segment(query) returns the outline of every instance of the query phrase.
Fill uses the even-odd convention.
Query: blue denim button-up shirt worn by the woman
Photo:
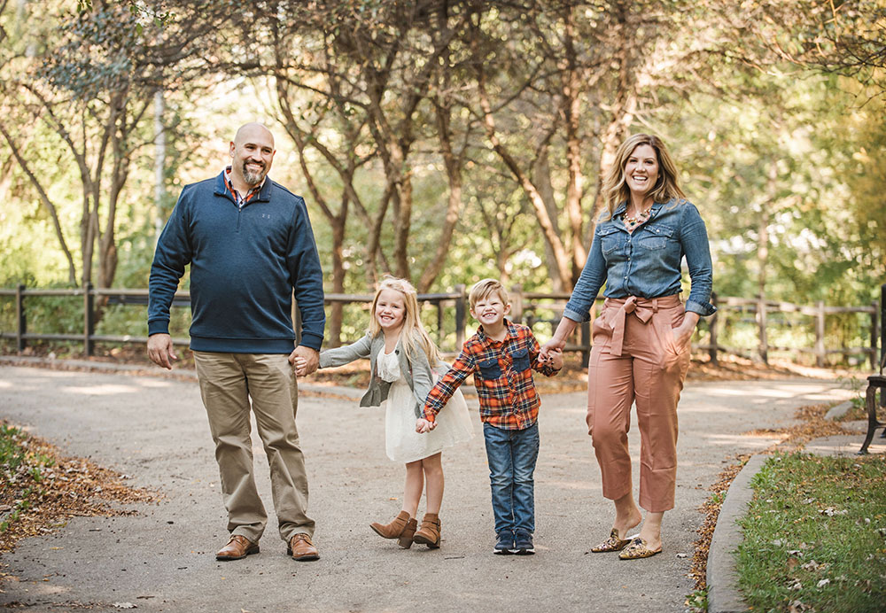
[[[652,215],[633,234],[625,228],[626,204],[611,219],[599,221],[585,268],[563,315],[573,322],[590,318],[603,283],[606,298],[657,298],[680,293],[680,261],[686,256],[692,284],[686,310],[711,315],[711,250],[704,221],[695,205],[672,199],[652,205]]]

